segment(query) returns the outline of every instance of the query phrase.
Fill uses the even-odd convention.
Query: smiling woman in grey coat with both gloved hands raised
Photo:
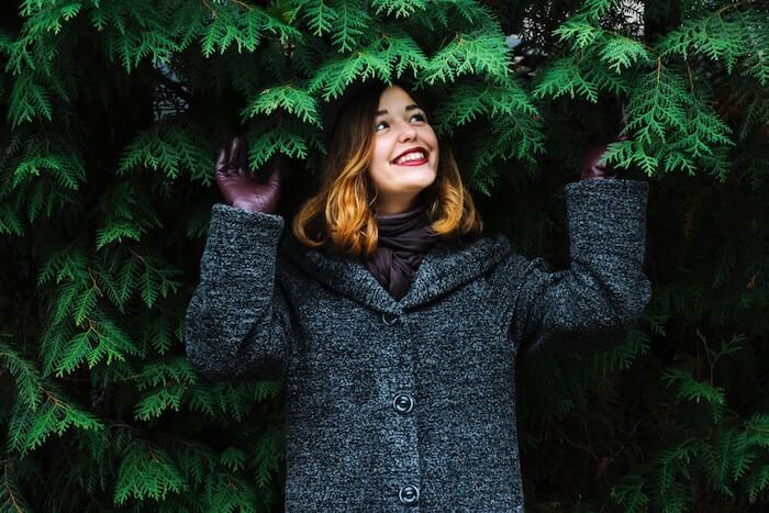
[[[287,511],[523,511],[514,359],[623,339],[650,295],[648,185],[589,161],[566,186],[570,268],[551,272],[478,236],[403,83],[357,91],[332,133],[282,244],[280,166],[258,183],[241,140],[220,153],[230,204],[212,209],[190,360],[211,379],[286,380]]]

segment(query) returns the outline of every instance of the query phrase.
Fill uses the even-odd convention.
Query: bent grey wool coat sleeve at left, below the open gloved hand
[[[210,379],[280,378],[291,339],[276,280],[283,219],[214,204],[200,282],[187,309],[189,361]]]

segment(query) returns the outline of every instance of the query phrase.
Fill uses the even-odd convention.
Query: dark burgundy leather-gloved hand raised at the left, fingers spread
[[[278,210],[281,182],[288,166],[287,157],[276,155],[266,166],[266,181],[260,183],[256,174],[248,168],[246,142],[236,136],[230,143],[230,149],[219,150],[214,177],[229,204],[250,212],[274,214]]]

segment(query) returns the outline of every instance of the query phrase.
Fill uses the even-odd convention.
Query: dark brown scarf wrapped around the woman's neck
[[[423,207],[400,214],[377,215],[377,250],[364,264],[395,300],[409,290],[422,255],[435,243]]]

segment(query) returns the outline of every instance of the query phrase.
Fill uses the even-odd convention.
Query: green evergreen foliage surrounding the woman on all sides
[[[243,133],[254,168],[301,163],[290,222],[324,104],[370,76],[436,99],[489,230],[554,267],[588,147],[653,182],[638,325],[610,352],[519,361],[527,510],[762,511],[768,7],[5,2],[2,511],[281,510],[282,383],[212,383],[183,352],[214,158]]]

